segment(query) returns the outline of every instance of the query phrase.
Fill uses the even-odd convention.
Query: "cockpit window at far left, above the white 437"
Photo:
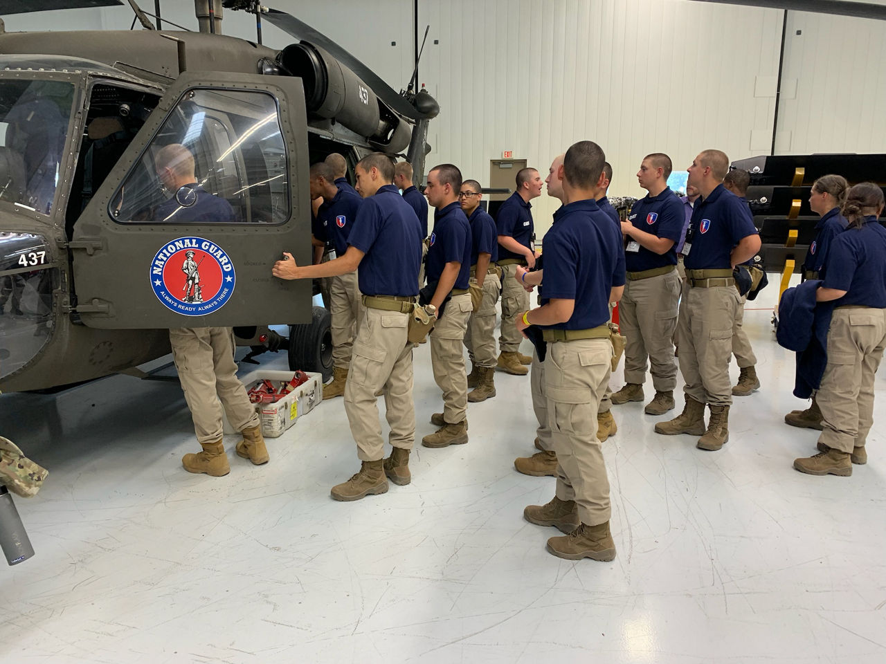
[[[0,200],[50,214],[74,86],[0,81]]]

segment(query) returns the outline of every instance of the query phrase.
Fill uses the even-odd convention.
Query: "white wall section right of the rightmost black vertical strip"
[[[789,12],[782,81],[778,153],[886,152],[886,21]]]

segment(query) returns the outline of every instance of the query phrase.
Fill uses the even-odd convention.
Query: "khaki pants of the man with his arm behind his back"
[[[690,288],[683,284],[677,345],[683,391],[703,404],[732,405],[729,359],[738,308],[734,286]]]

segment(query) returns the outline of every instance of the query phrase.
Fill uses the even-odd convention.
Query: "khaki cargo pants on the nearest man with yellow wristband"
[[[548,423],[557,458],[556,497],[574,500],[587,526],[610,520],[610,486],[597,409],[610,377],[609,339],[548,344],[545,389]]]

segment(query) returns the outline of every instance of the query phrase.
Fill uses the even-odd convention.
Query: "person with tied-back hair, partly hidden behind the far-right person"
[[[848,193],[849,182],[843,175],[822,175],[812,183],[809,207],[812,212],[819,214],[821,219],[815,225],[815,238],[806,251],[802,272],[804,280],[825,278],[830,245],[837,235],[843,233],[849,223],[840,211]],[[812,404],[808,408],[791,411],[784,416],[784,421],[792,427],[820,431],[821,410],[815,395],[812,395]]]

